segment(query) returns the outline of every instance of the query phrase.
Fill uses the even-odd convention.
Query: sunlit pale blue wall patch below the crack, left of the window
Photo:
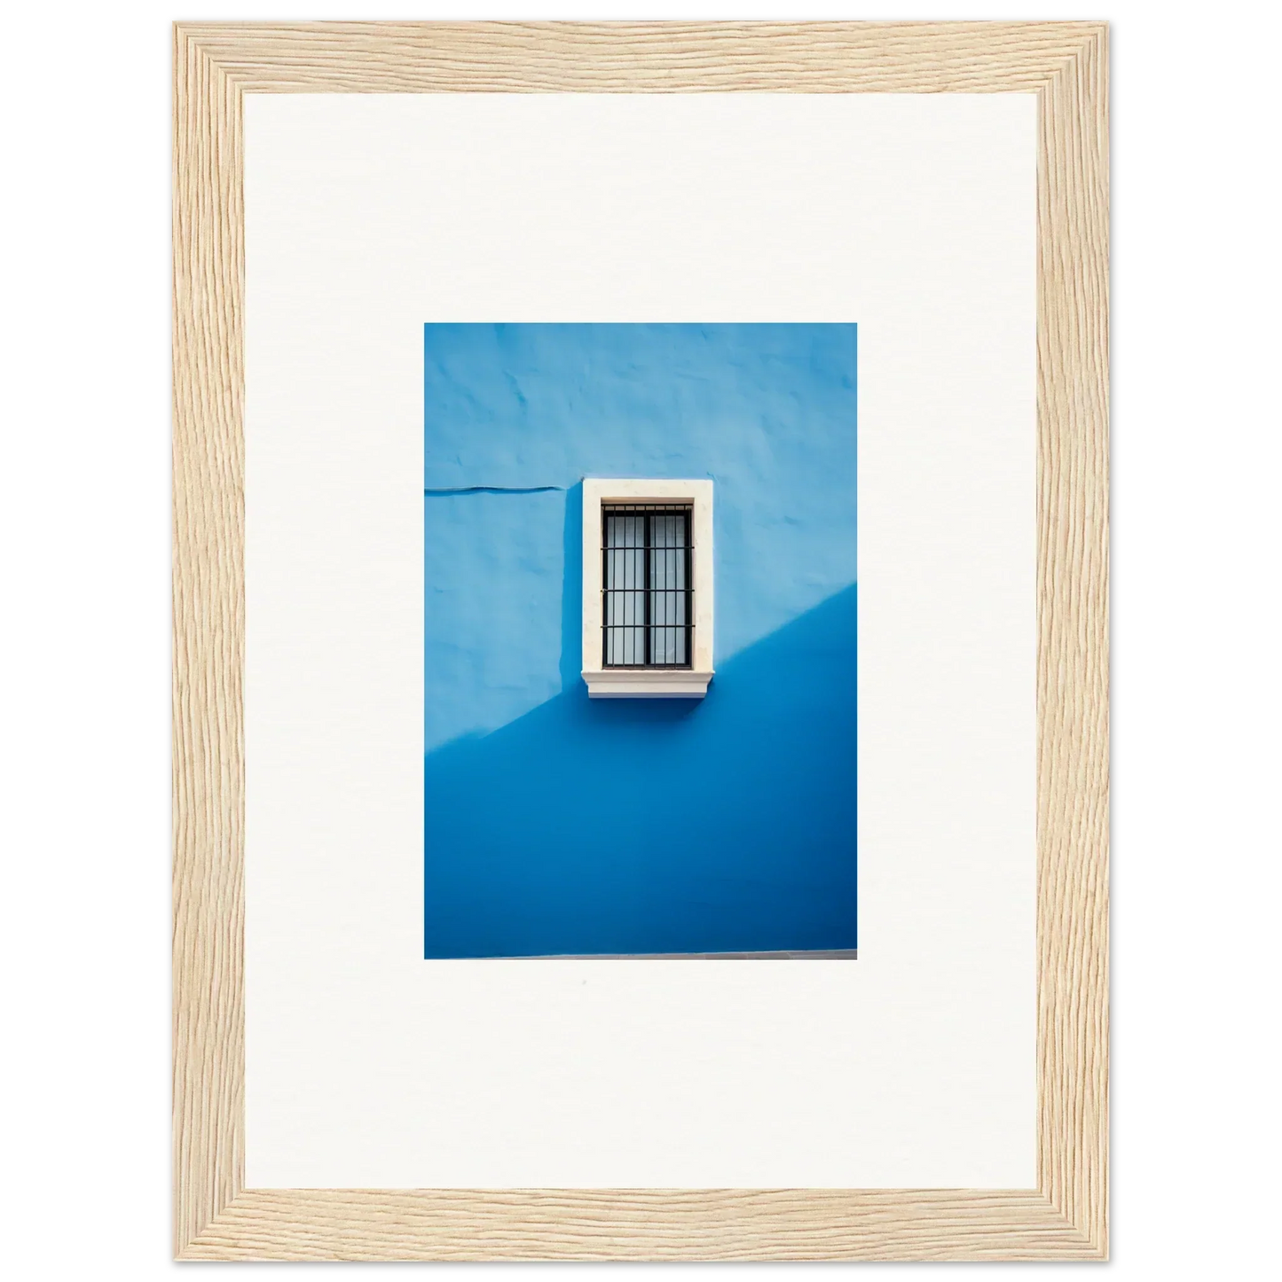
[[[426,749],[562,688],[565,495],[426,495]]]

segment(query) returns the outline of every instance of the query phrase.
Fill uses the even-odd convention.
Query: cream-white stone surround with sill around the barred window
[[[601,654],[601,505],[688,503],[695,590],[690,668],[606,668]],[[713,679],[712,481],[583,481],[583,681],[590,699],[703,699]]]

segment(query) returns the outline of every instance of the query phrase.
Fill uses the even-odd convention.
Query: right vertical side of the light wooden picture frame
[[[1108,1254],[1108,28],[1041,90],[1040,1188]]]

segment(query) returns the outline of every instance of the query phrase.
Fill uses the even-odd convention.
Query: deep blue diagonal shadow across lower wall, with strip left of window
[[[856,947],[855,586],[735,655],[706,699],[590,700],[581,504],[563,692],[426,759],[426,955]]]

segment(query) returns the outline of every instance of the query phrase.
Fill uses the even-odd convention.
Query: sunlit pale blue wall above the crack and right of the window
[[[717,482],[715,662],[855,581],[855,327],[428,326],[429,490]]]

